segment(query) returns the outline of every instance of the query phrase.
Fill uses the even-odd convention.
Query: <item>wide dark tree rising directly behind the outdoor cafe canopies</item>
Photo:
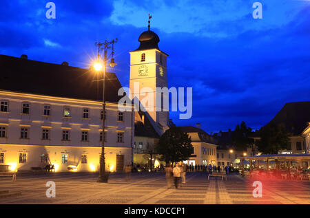
[[[282,124],[271,123],[260,129],[258,150],[265,154],[276,154],[281,149],[287,149],[289,135]]]

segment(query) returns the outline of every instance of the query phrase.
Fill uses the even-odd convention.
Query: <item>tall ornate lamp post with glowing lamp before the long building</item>
[[[112,50],[111,54],[112,58],[109,63],[111,67],[114,67],[116,63],[114,62],[114,43],[117,42],[117,39],[113,39],[112,41],[108,42],[105,41],[104,43],[95,43],[98,46],[98,57],[97,62],[94,64],[94,69],[97,72],[100,72],[103,68],[103,111],[102,111],[102,148],[101,148],[101,157],[100,157],[100,168],[99,168],[99,178],[97,182],[107,182],[109,178],[109,174],[105,173],[105,69],[107,66],[107,61],[109,57],[107,57],[107,50]],[[112,45],[112,46],[111,46]],[[100,50],[103,50],[103,66],[100,63]]]

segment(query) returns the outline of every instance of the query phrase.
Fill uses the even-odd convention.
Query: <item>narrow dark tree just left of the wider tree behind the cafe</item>
[[[248,146],[254,143],[254,140],[249,138],[252,129],[247,127],[244,121],[236,126],[234,134],[231,137],[231,142],[238,151],[245,151]]]

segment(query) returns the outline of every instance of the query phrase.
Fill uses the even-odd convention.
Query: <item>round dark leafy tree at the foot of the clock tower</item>
[[[161,160],[167,164],[187,160],[194,151],[191,138],[187,133],[183,133],[180,127],[171,127],[165,131],[155,149],[156,153],[161,155]]]

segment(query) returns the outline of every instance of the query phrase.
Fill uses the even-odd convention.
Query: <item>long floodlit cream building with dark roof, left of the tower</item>
[[[92,69],[3,55],[0,65],[1,165],[98,171],[103,138],[107,171],[132,163],[134,117],[130,109],[118,111],[121,84],[115,74],[106,74],[113,80],[106,81],[102,134],[102,85],[93,82]]]

